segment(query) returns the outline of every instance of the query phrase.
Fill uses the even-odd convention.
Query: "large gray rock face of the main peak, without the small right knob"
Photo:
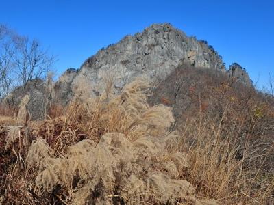
[[[90,82],[92,95],[97,95],[104,89],[102,79],[112,76],[119,92],[135,77],[161,81],[182,63],[225,72],[221,57],[212,47],[164,23],[153,24],[142,33],[125,36],[117,44],[101,49],[87,59],[79,71],[66,71],[55,87],[64,91],[60,92],[60,98],[68,102],[73,96],[73,87],[83,79]]]

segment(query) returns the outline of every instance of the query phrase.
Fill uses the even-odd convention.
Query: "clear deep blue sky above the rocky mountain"
[[[0,23],[38,38],[58,55],[58,74],[79,68],[101,47],[152,23],[169,22],[207,40],[227,65],[236,61],[261,87],[274,74],[274,1],[2,0]]]

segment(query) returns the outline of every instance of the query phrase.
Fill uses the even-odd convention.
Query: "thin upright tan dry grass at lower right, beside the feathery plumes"
[[[182,148],[190,159],[186,180],[196,184],[197,195],[225,204],[273,203],[274,178],[262,169],[273,143],[264,154],[249,150],[252,141],[247,138],[242,146],[240,128],[234,124],[227,132],[223,120],[201,118],[184,126],[181,143],[188,145]]]

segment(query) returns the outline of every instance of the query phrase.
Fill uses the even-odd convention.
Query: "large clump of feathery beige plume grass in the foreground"
[[[189,162],[174,149],[180,137],[169,132],[171,108],[147,104],[145,79],[119,95],[110,84],[96,98],[80,91],[64,117],[24,128],[33,140],[22,154],[28,191],[21,204],[29,195],[40,203],[203,204],[182,178]]]

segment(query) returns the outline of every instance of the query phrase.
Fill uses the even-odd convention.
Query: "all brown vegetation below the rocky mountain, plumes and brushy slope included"
[[[104,84],[46,120],[27,120],[27,95],[1,117],[0,204],[273,203],[271,96],[197,68]]]

